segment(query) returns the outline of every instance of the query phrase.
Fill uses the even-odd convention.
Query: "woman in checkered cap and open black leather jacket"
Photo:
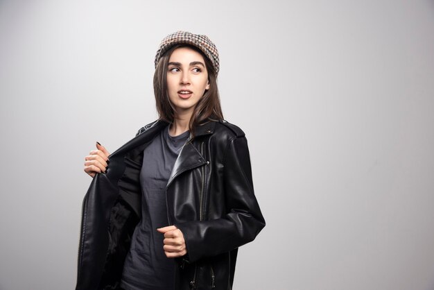
[[[85,157],[94,179],[76,289],[232,289],[238,247],[265,221],[245,135],[223,120],[218,69],[208,37],[168,35],[155,57],[159,119]]]

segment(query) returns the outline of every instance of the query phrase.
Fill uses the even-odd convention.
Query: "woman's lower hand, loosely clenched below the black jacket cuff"
[[[182,257],[186,255],[184,234],[175,225],[169,225],[164,228],[157,228],[158,232],[164,234],[163,248],[164,254],[168,258]]]

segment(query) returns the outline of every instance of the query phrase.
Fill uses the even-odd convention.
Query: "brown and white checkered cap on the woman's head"
[[[216,71],[216,74],[218,74],[220,64],[218,62],[218,51],[216,44],[211,42],[207,35],[198,35],[186,31],[177,31],[164,37],[162,43],[159,44],[157,55],[155,56],[155,67],[157,67],[157,63],[164,53],[176,44],[190,44],[196,46],[198,49],[200,49],[200,51],[205,53],[205,56],[209,58],[214,70]]]

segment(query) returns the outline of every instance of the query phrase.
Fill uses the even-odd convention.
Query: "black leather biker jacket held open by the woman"
[[[83,201],[76,289],[119,289],[132,232],[141,219],[139,173],[144,148],[167,126],[156,121],[110,155]],[[166,187],[169,224],[184,234],[175,289],[232,289],[238,247],[265,221],[254,196],[247,140],[226,121],[195,130]]]

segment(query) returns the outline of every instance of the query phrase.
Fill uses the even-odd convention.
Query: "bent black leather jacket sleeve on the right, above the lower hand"
[[[223,160],[226,214],[220,219],[176,224],[189,262],[229,252],[253,241],[266,225],[254,196],[247,139],[231,139]]]

